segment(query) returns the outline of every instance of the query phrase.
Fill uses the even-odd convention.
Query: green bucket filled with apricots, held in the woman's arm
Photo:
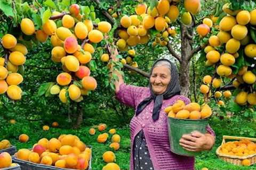
[[[199,152],[188,151],[179,145],[183,134],[193,131],[206,132],[208,118],[212,115],[209,105],[200,106],[197,103],[185,105],[182,100],[177,100],[172,106],[164,109],[168,115],[168,132],[171,151],[182,156],[196,156]]]

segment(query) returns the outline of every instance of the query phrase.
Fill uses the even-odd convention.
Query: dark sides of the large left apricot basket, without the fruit
[[[90,149],[92,149],[91,146],[88,146]],[[18,163],[21,166],[22,170],[74,170],[74,169],[69,169],[69,168],[58,168],[55,166],[50,166],[50,165],[43,165],[43,164],[35,164],[35,163],[31,163],[28,162],[26,160],[21,160],[18,159],[17,157],[15,157],[15,155],[12,156],[12,161],[14,163]],[[0,169],[2,170],[2,169]],[[86,170],[92,170],[92,154],[91,154],[91,158],[89,160],[89,165],[87,167]]]

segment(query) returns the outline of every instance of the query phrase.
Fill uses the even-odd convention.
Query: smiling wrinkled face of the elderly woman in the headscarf
[[[171,71],[166,66],[158,66],[153,69],[150,83],[154,94],[160,95],[165,92],[171,81]]]

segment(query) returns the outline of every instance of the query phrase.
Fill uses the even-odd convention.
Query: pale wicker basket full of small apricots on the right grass
[[[216,154],[226,162],[250,166],[256,163],[256,138],[223,135],[221,146],[216,150]]]

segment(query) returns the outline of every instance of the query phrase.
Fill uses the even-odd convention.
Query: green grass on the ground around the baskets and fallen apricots
[[[92,169],[102,169],[103,166],[106,165],[103,162],[102,154],[105,151],[112,150],[109,148],[110,138],[105,144],[98,143],[97,137],[100,134],[99,131],[96,132],[95,135],[90,135],[88,133],[90,126],[82,127],[79,130],[74,129],[65,129],[63,127],[60,128],[50,128],[49,131],[42,130],[42,124],[36,122],[26,122],[26,123],[16,123],[14,125],[5,123],[1,129],[0,139],[9,139],[11,143],[17,146],[18,149],[21,148],[31,148],[34,143],[36,143],[41,138],[56,138],[60,134],[74,134],[77,135],[82,141],[86,143],[86,145],[92,146]],[[116,128],[117,134],[121,135],[121,147],[119,150],[114,151],[116,155],[116,163],[121,167],[122,170],[129,169],[130,164],[130,129],[129,126],[126,125],[123,128],[117,127],[108,127],[107,130],[103,132],[108,132],[109,129]],[[101,132],[101,133],[103,133]],[[29,135],[29,141],[27,143],[21,143],[18,141],[18,136],[21,133],[26,133]],[[203,167],[207,167],[211,170],[217,169],[256,169],[256,166],[250,167],[241,167],[235,166],[233,164],[229,164],[223,162],[215,155],[215,150],[221,143],[221,137],[217,138],[217,142],[213,149],[209,152],[203,152],[201,155],[196,157],[196,169],[201,169]]]

